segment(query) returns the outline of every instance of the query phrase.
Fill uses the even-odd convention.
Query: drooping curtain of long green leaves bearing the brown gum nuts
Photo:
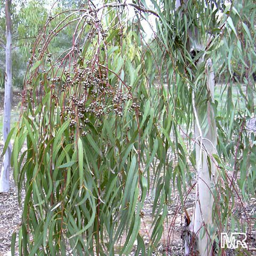
[[[136,25],[103,12],[103,25],[94,11],[67,12],[54,30],[51,17],[33,49],[12,155],[19,195],[26,189],[20,255],[114,255],[124,233],[121,253],[142,240],[145,174],[162,154],[144,71],[152,59]],[[70,49],[53,62],[51,41],[69,25]]]

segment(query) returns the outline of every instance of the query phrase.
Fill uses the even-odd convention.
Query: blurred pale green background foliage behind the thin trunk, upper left
[[[31,55],[31,47],[33,46],[39,31],[42,30],[51,6],[54,1],[39,0],[13,0],[11,8],[12,30],[13,30],[13,87],[14,89],[22,89],[23,79],[26,74],[28,60]],[[0,1],[0,39],[5,42],[5,1]],[[81,1],[58,1],[51,11],[52,15],[60,13],[64,10],[81,7]],[[54,24],[61,20],[63,15],[58,19],[54,19]],[[68,27],[61,32],[58,40],[51,45],[51,52],[55,56],[63,50],[70,47],[73,36],[73,27]],[[0,46],[0,89],[4,88],[4,70],[5,70],[5,50]]]

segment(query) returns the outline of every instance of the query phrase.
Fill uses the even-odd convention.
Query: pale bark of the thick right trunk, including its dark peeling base
[[[183,4],[187,4],[187,0],[183,0]],[[176,11],[181,6],[181,1],[175,1]],[[195,31],[197,34],[198,31]],[[197,42],[197,36],[193,37],[191,31],[188,30],[190,45],[194,45],[195,50],[204,50],[200,42]],[[198,48],[198,49],[197,49]],[[191,50],[191,49],[190,49]],[[203,59],[203,57],[202,57]],[[200,61],[200,60],[199,60]],[[184,253],[189,255],[210,256],[213,255],[213,245],[211,243],[211,234],[213,227],[213,190],[217,181],[216,165],[213,162],[212,154],[217,154],[217,131],[214,117],[214,110],[211,102],[214,101],[215,77],[212,67],[212,61],[206,62],[205,75],[207,76],[207,91],[210,93],[207,101],[207,113],[201,113],[202,110],[195,105],[195,93],[193,92],[193,109],[195,114],[195,138],[196,138],[196,169],[197,169],[197,185],[195,196],[195,209],[193,218],[190,222],[186,222],[183,230]],[[203,117],[207,115],[207,125],[203,124]],[[202,128],[206,127],[206,128]],[[209,161],[207,161],[207,158]],[[210,163],[210,165],[209,165]],[[211,230],[211,232],[210,232]]]

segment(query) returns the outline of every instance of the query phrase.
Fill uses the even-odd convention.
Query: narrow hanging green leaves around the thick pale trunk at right
[[[223,250],[219,249],[218,239],[221,232],[240,230],[251,234],[253,228],[243,202],[255,194],[256,185],[253,161],[255,139],[246,124],[248,119],[254,117],[255,111],[256,9],[251,1],[234,1],[231,4],[221,1],[183,1],[174,11],[176,2],[152,1],[159,15],[158,42],[164,49],[158,54],[166,60],[161,66],[161,73],[162,77],[166,75],[170,95],[166,116],[169,122],[172,119],[173,126],[169,127],[167,134],[174,134],[174,138],[177,138],[176,154],[186,155],[186,158],[178,158],[175,179],[178,188],[183,185],[179,189],[182,204],[182,194],[187,191],[185,175],[187,182],[191,177],[191,170],[185,167],[188,157],[191,164],[195,163],[193,119],[197,114],[202,130],[207,133],[211,129],[211,106],[217,124],[218,145],[216,154],[209,155],[207,161],[210,164],[210,158],[213,158],[219,180],[213,191],[214,227],[208,235],[221,254]],[[211,91],[207,87],[209,70],[206,67],[209,61],[213,63],[217,82],[215,101],[211,100]],[[197,113],[193,109],[193,92]],[[178,130],[182,133],[186,131],[184,139],[177,134]],[[184,147],[186,141],[192,150],[190,154]],[[184,174],[186,171],[187,174]],[[184,207],[186,209],[186,202]],[[245,222],[237,214],[236,207],[243,209]],[[229,224],[231,227],[228,227]],[[204,233],[203,228],[202,235]],[[249,253],[241,251],[243,255]]]

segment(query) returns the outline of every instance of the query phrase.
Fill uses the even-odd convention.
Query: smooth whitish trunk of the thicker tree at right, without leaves
[[[212,70],[212,61],[208,60],[206,66],[206,70],[209,71],[206,72],[207,90],[209,90],[209,92],[211,93],[211,98],[213,101],[215,81],[214,73]],[[196,143],[197,187],[195,198],[195,210],[192,222],[190,223],[190,229],[193,231],[193,234],[196,234],[197,250],[199,252],[199,255],[201,256],[209,256],[213,254],[210,229],[213,228],[212,193],[215,188],[217,179],[216,166],[215,163],[212,161],[212,154],[217,154],[215,151],[217,146],[217,131],[214,110],[210,102],[208,102],[207,104],[208,124],[206,128],[203,129],[202,120],[199,118],[199,116],[202,115],[200,115],[200,110],[196,108],[195,100],[193,99],[195,111],[195,137],[198,138],[199,143]]]

